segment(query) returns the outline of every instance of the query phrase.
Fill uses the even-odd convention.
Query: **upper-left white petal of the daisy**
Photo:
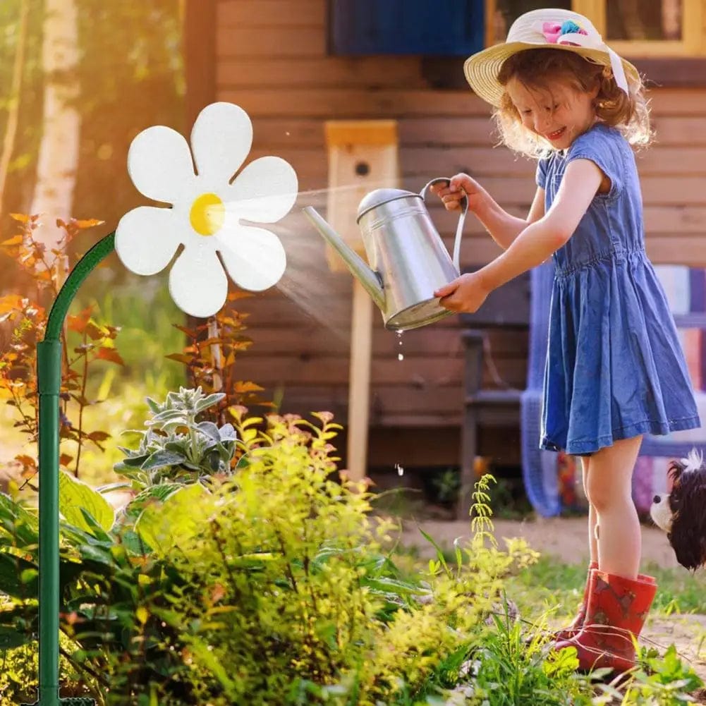
[[[128,173],[140,193],[164,203],[188,196],[196,181],[184,136],[164,125],[147,128],[132,141]]]

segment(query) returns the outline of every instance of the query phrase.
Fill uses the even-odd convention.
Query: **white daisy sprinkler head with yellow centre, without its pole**
[[[126,213],[116,228],[116,253],[133,273],[155,275],[183,245],[169,273],[169,292],[191,316],[212,316],[225,304],[224,266],[239,287],[254,292],[277,284],[285,272],[280,239],[241,221],[274,223],[287,215],[297,199],[297,174],[280,157],[260,157],[232,180],[252,141],[248,114],[219,102],[198,115],[191,150],[183,136],[162,125],[143,130],[130,145],[133,184],[171,208],[138,206]]]

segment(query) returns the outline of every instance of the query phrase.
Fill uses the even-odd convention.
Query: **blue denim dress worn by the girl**
[[[615,128],[596,124],[566,152],[540,160],[546,211],[578,159],[597,164],[611,189],[594,197],[553,256],[540,447],[589,455],[700,420],[674,319],[645,253],[633,151]]]

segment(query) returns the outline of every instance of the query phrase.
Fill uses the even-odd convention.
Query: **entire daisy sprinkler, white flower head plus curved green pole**
[[[206,318],[225,304],[224,268],[242,289],[273,287],[285,272],[277,236],[242,220],[274,223],[297,200],[298,180],[280,157],[259,157],[233,179],[253,140],[248,114],[217,102],[196,118],[189,144],[177,131],[152,126],[128,151],[128,173],[136,188],[171,208],[138,206],[115,232],[78,261],[54,301],[44,340],[37,344],[39,394],[39,700],[32,706],[95,706],[92,698],[59,698],[59,394],[61,330],[76,292],[110,253],[138,275],[169,265],[169,292],[179,309]],[[194,173],[194,165],[198,174]],[[220,255],[220,258],[219,258]],[[25,705],[26,706],[26,705]]]

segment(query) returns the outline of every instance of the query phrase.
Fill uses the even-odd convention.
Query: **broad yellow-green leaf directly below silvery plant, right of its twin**
[[[147,505],[135,523],[135,531],[154,551],[167,552],[198,534],[214,502],[214,496],[200,483],[181,486],[163,503]]]

